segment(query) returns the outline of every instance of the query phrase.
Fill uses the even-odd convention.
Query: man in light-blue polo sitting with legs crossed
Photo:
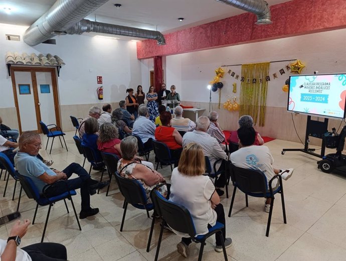
[[[96,193],[96,189],[108,186],[109,182],[98,182],[90,178],[88,172],[77,163],[70,164],[63,171],[52,170],[37,158],[41,149],[40,135],[34,132],[24,132],[19,139],[19,152],[15,156],[15,164],[21,175],[32,179],[37,189],[42,192],[47,184],[53,184],[45,190],[45,195],[54,197],[66,191],[66,185],[69,190],[81,189],[81,212],[79,218],[83,219],[93,216],[99,212],[98,208],[90,207],[90,195]],[[75,173],[79,177],[69,179]]]

